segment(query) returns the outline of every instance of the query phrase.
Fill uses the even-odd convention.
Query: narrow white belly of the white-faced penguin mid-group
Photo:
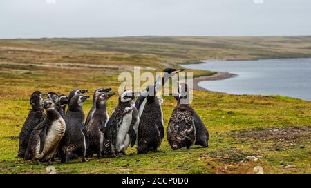
[[[117,152],[122,151],[122,149],[124,148],[124,140],[126,138],[126,134],[129,132],[129,126],[131,125],[131,121],[132,121],[132,112],[129,112],[124,115],[122,124],[120,125],[117,132],[117,142],[116,142]]]

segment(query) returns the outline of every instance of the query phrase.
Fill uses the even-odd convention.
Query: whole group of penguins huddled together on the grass
[[[170,76],[180,71],[183,69],[163,70]],[[126,155],[126,149],[134,145],[138,154],[158,152],[164,138],[164,123],[163,100],[156,92],[168,79],[159,76],[153,87],[149,87],[154,95],[146,94],[150,92],[147,88],[136,101],[135,92],[124,90],[110,117],[106,103],[115,93],[111,88],[97,89],[86,120],[82,105],[89,98],[84,95],[87,90],[75,89],[68,96],[34,92],[30,97],[32,109],[19,134],[17,157],[50,165],[55,158],[69,163],[76,158],[87,161],[86,158],[94,154],[98,157]],[[204,123],[189,103],[180,103],[187,94],[186,83],[179,85],[178,94],[173,94],[178,103],[169,120],[167,139],[174,150],[189,149],[191,145],[208,147],[209,132]]]

